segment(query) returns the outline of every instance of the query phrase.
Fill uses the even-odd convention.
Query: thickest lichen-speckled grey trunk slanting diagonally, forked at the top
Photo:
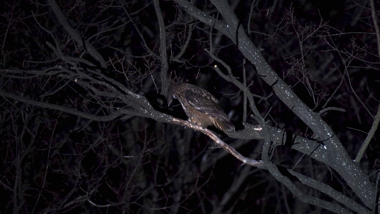
[[[351,160],[345,148],[340,143],[337,136],[322,120],[318,113],[313,112],[309,107],[296,96],[296,94],[266,63],[260,50],[253,45],[248,38],[236,15],[231,11],[230,6],[225,0],[213,0],[212,3],[218,11],[223,15],[226,24],[218,21],[195,6],[191,5],[187,0],[175,0],[187,13],[195,16],[200,21],[214,26],[223,34],[229,37],[239,48],[241,53],[256,67],[258,75],[270,86],[272,86],[275,94],[291,109],[299,118],[301,118],[307,126],[309,126],[326,145],[328,164],[335,169],[347,184],[354,190],[359,198],[366,204],[371,206],[374,196],[374,188],[372,187],[368,177],[359,168],[359,166]],[[346,169],[349,168],[350,171]],[[356,176],[352,176],[355,174]]]

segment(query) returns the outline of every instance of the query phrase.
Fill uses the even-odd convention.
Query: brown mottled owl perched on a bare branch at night
[[[181,103],[188,121],[207,127],[214,125],[223,132],[235,129],[219,101],[208,91],[185,82],[173,82],[170,96]]]

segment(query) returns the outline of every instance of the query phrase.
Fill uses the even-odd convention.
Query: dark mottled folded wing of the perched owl
[[[219,120],[230,121],[222,106],[220,106],[219,101],[202,88],[187,89],[185,91],[185,99],[192,107],[198,109],[199,112]]]

